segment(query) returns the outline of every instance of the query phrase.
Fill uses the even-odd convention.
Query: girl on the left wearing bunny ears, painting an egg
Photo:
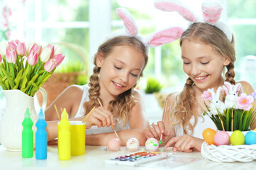
[[[130,137],[136,137],[140,145],[145,145],[143,129],[149,123],[141,94],[135,86],[148,62],[147,47],[177,40],[183,32],[180,28],[167,28],[144,38],[138,35],[136,23],[125,8],[116,9],[116,13],[123,20],[124,30],[114,31],[99,46],[89,84],[68,87],[45,111],[46,120],[57,120],[54,105],[66,108],[69,118],[84,120],[95,108],[86,122],[87,145],[108,145],[108,140],[116,137],[111,125],[121,145],[126,145]],[[49,131],[53,131],[50,127]],[[57,130],[48,134],[51,140],[57,137]]]

